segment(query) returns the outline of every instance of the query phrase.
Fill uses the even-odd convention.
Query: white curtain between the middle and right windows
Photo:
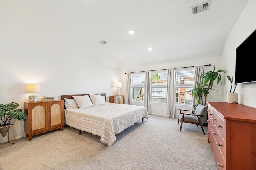
[[[174,69],[170,68],[168,71],[168,79],[167,79],[167,117],[174,118],[175,115],[175,84],[174,84]]]

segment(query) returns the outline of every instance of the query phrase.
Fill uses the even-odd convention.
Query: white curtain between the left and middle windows
[[[150,114],[150,71],[145,71],[144,82],[144,106],[146,107],[148,114]]]

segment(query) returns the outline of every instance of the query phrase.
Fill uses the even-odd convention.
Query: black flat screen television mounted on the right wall
[[[256,82],[256,30],[236,48],[235,84]]]

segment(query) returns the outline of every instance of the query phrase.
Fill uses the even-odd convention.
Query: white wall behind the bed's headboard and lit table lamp
[[[18,27],[16,28],[18,29]],[[0,103],[18,102],[24,110],[28,102],[27,83],[40,84],[39,99],[52,95],[60,99],[65,94],[116,93],[114,82],[121,80],[120,69],[98,64],[1,35]],[[25,136],[24,121],[13,119],[15,138]],[[13,139],[10,129],[10,139]],[[8,140],[0,135],[0,143]]]

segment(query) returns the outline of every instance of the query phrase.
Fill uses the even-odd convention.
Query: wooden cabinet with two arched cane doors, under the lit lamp
[[[45,102],[25,102],[26,137],[45,133],[55,129],[63,130],[64,125],[64,102],[63,100]]]

